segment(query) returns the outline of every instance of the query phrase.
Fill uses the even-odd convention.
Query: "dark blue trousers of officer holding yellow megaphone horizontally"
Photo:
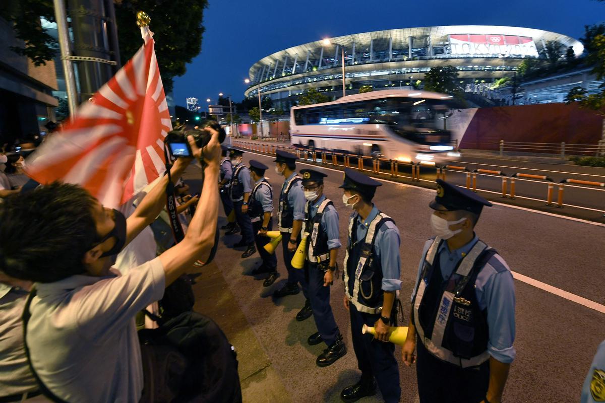
[[[399,385],[399,366],[397,366],[394,356],[395,345],[374,340],[374,336],[371,334],[361,333],[364,324],[374,326],[381,315],[359,312],[353,304],[349,304],[349,313],[353,349],[359,370],[361,370],[362,381],[368,382],[373,376],[376,378],[384,401],[387,403],[399,402],[401,386]]]

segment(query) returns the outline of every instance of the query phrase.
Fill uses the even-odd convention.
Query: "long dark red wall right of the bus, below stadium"
[[[603,117],[577,104],[480,108],[460,141],[463,149],[499,149],[500,140],[528,143],[597,144]]]

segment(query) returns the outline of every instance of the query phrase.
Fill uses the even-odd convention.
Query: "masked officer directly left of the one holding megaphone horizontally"
[[[303,227],[307,236],[305,280],[318,330],[310,335],[307,342],[311,346],[322,341],[327,345],[315,361],[319,367],[327,367],[347,353],[330,306],[330,286],[335,276],[338,248],[341,247],[338,212],[332,201],[324,196],[324,177],[327,175],[312,169],[301,169],[300,173],[307,199]]]

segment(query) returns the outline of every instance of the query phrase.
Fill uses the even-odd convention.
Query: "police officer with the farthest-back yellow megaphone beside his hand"
[[[265,287],[272,285],[275,279],[280,276],[277,272],[275,253],[269,253],[264,248],[264,245],[270,242],[267,231],[273,229],[273,219],[271,218],[273,213],[273,188],[264,177],[265,170],[268,168],[257,160],[250,160],[250,178],[254,182],[254,187],[249,198],[248,215],[252,221],[254,241],[263,260],[263,263],[254,269],[252,274],[269,273],[269,276],[263,282]]]

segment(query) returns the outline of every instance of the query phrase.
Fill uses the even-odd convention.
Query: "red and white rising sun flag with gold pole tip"
[[[154,40],[147,28],[142,33],[145,45],[28,158],[28,176],[82,185],[103,205],[118,207],[163,174],[172,124]]]

